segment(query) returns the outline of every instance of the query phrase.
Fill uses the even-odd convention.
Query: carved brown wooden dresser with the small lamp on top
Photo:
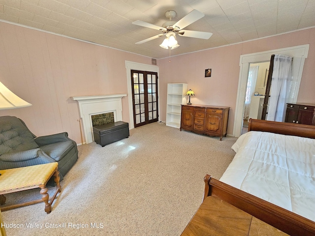
[[[182,105],[180,130],[198,134],[226,136],[229,107],[207,105]]]

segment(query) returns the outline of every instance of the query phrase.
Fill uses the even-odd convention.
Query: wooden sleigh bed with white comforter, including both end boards
[[[250,119],[249,132],[220,180],[205,194],[289,235],[315,235],[315,126]]]

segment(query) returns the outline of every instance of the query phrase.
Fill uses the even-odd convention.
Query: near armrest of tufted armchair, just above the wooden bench
[[[21,162],[32,160],[35,158],[41,158],[46,163],[55,161],[53,158],[44,153],[40,148],[35,148],[26,151],[4,153],[0,155],[0,161],[3,162]]]

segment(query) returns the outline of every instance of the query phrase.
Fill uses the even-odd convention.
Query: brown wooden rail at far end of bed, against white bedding
[[[315,139],[315,126],[306,124],[295,124],[250,118],[248,131],[263,131]]]

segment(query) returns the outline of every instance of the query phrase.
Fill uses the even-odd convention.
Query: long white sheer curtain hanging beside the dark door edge
[[[267,120],[283,121],[288,89],[291,81],[292,58],[275,55]]]

